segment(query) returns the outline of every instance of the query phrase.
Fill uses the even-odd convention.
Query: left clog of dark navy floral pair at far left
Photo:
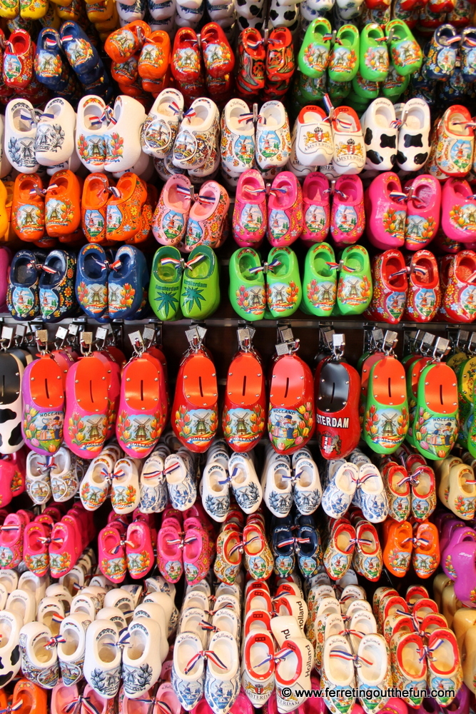
[[[11,261],[6,305],[16,320],[39,316],[39,265],[45,256],[42,251],[18,251]]]

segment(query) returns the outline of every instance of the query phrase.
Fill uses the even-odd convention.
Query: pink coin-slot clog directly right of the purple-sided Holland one
[[[66,393],[64,441],[76,456],[94,458],[108,431],[108,373],[103,361],[90,355],[74,363],[66,376]]]

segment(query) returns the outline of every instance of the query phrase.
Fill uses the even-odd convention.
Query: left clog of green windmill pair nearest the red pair
[[[318,317],[328,317],[335,304],[337,274],[328,263],[335,263],[333,248],[328,243],[309,248],[304,263],[301,310]]]

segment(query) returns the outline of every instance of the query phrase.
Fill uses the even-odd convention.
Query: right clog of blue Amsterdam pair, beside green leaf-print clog
[[[136,246],[121,246],[114,262],[119,264],[109,273],[109,316],[131,320],[143,307],[143,301],[147,303],[146,258]]]

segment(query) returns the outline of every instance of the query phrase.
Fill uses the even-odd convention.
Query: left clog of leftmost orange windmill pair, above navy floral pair
[[[39,241],[45,232],[43,181],[38,174],[19,174],[11,201],[11,225],[22,241]]]

